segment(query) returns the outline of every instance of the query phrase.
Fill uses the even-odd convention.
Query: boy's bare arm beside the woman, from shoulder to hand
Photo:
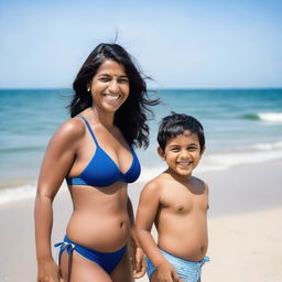
[[[178,281],[174,268],[166,261],[151,235],[151,228],[160,207],[160,191],[161,187],[158,182],[152,181],[144,186],[140,195],[135,220],[137,238],[145,254],[156,268],[158,276],[164,279],[163,281],[172,278]]]

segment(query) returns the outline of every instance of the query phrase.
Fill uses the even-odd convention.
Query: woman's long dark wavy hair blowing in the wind
[[[160,100],[149,99],[145,77],[142,77],[141,70],[135,67],[128,52],[118,44],[99,44],[83,64],[73,84],[74,96],[67,106],[70,117],[93,106],[87,85],[96,75],[98,67],[107,59],[122,64],[129,78],[129,97],[115,112],[113,123],[121,130],[130,145],[147,148],[149,145],[147,117],[153,113],[150,107],[158,105]]]

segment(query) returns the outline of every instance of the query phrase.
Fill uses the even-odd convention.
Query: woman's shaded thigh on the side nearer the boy
[[[118,263],[118,265],[110,273],[110,278],[112,282],[133,282],[132,278],[132,268],[129,260],[129,251],[128,248]]]

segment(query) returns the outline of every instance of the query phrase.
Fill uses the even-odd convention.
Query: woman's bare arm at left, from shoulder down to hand
[[[51,250],[52,204],[75,160],[75,147],[80,134],[76,123],[73,120],[64,123],[53,135],[40,171],[34,207],[37,281],[58,281],[58,267]]]

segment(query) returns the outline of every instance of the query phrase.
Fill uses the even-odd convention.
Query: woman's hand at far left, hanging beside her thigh
[[[59,275],[59,268],[53,260],[40,262],[37,282],[63,282]]]

